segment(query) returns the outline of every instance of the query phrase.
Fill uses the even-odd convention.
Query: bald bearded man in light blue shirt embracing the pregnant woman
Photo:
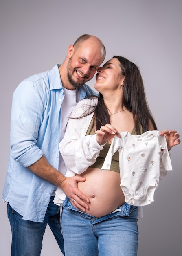
[[[8,202],[12,256],[39,256],[48,224],[64,254],[59,207],[53,203],[61,187],[77,207],[89,199],[77,188],[82,177],[66,178],[58,144],[77,102],[95,94],[86,82],[105,58],[105,47],[92,35],[80,36],[68,47],[62,65],[22,81],[13,93],[10,155],[2,199]]]

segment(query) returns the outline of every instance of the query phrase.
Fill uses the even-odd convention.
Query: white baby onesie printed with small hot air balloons
[[[165,136],[159,131],[141,135],[120,132],[114,136],[102,170],[110,170],[112,155],[118,150],[121,189],[128,204],[144,206],[153,202],[153,196],[167,171],[172,170]]]

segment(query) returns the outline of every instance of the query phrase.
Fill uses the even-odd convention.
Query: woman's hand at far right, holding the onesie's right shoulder
[[[167,141],[167,148],[170,150],[173,146],[180,144],[180,135],[176,130],[163,130],[159,135],[164,135]]]

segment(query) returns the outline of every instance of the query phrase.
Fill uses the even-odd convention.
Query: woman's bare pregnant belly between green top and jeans
[[[86,181],[78,182],[78,189],[90,199],[86,213],[101,217],[125,203],[119,173],[88,168],[81,176],[86,177]]]

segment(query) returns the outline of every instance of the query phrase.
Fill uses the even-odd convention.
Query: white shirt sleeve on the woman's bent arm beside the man
[[[71,117],[79,117],[86,110],[86,100],[80,101],[72,111]],[[94,164],[103,146],[96,141],[95,135],[87,135],[86,131],[93,114],[82,118],[70,118],[64,138],[59,143],[59,151],[66,167],[77,174],[83,173]]]

